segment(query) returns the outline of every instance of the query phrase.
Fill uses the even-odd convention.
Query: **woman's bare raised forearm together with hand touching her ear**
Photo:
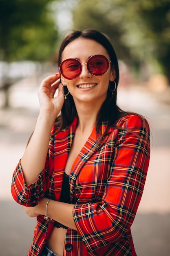
[[[59,90],[58,95],[54,97],[57,88]],[[33,135],[21,159],[26,184],[35,182],[45,166],[51,128],[64,103],[60,73],[48,76],[42,81],[38,90],[38,97],[40,114]]]

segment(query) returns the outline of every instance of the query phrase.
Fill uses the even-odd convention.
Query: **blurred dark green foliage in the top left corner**
[[[44,61],[58,38],[51,0],[0,0],[0,60]]]

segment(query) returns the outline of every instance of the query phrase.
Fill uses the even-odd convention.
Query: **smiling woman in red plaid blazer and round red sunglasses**
[[[68,34],[58,64],[40,85],[37,124],[13,174],[13,198],[37,217],[28,255],[136,255],[130,227],[148,170],[148,123],[117,107],[117,57],[100,32]]]

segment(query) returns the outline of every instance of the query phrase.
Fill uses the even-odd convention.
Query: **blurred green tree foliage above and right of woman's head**
[[[79,0],[73,24],[106,33],[119,59],[154,66],[170,81],[170,0]]]

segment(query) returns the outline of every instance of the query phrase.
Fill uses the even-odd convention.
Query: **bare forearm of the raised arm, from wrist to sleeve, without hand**
[[[54,120],[55,116],[50,112],[41,113],[38,117],[31,140],[21,159],[22,170],[27,185],[37,180],[38,175],[45,166],[49,138]]]

